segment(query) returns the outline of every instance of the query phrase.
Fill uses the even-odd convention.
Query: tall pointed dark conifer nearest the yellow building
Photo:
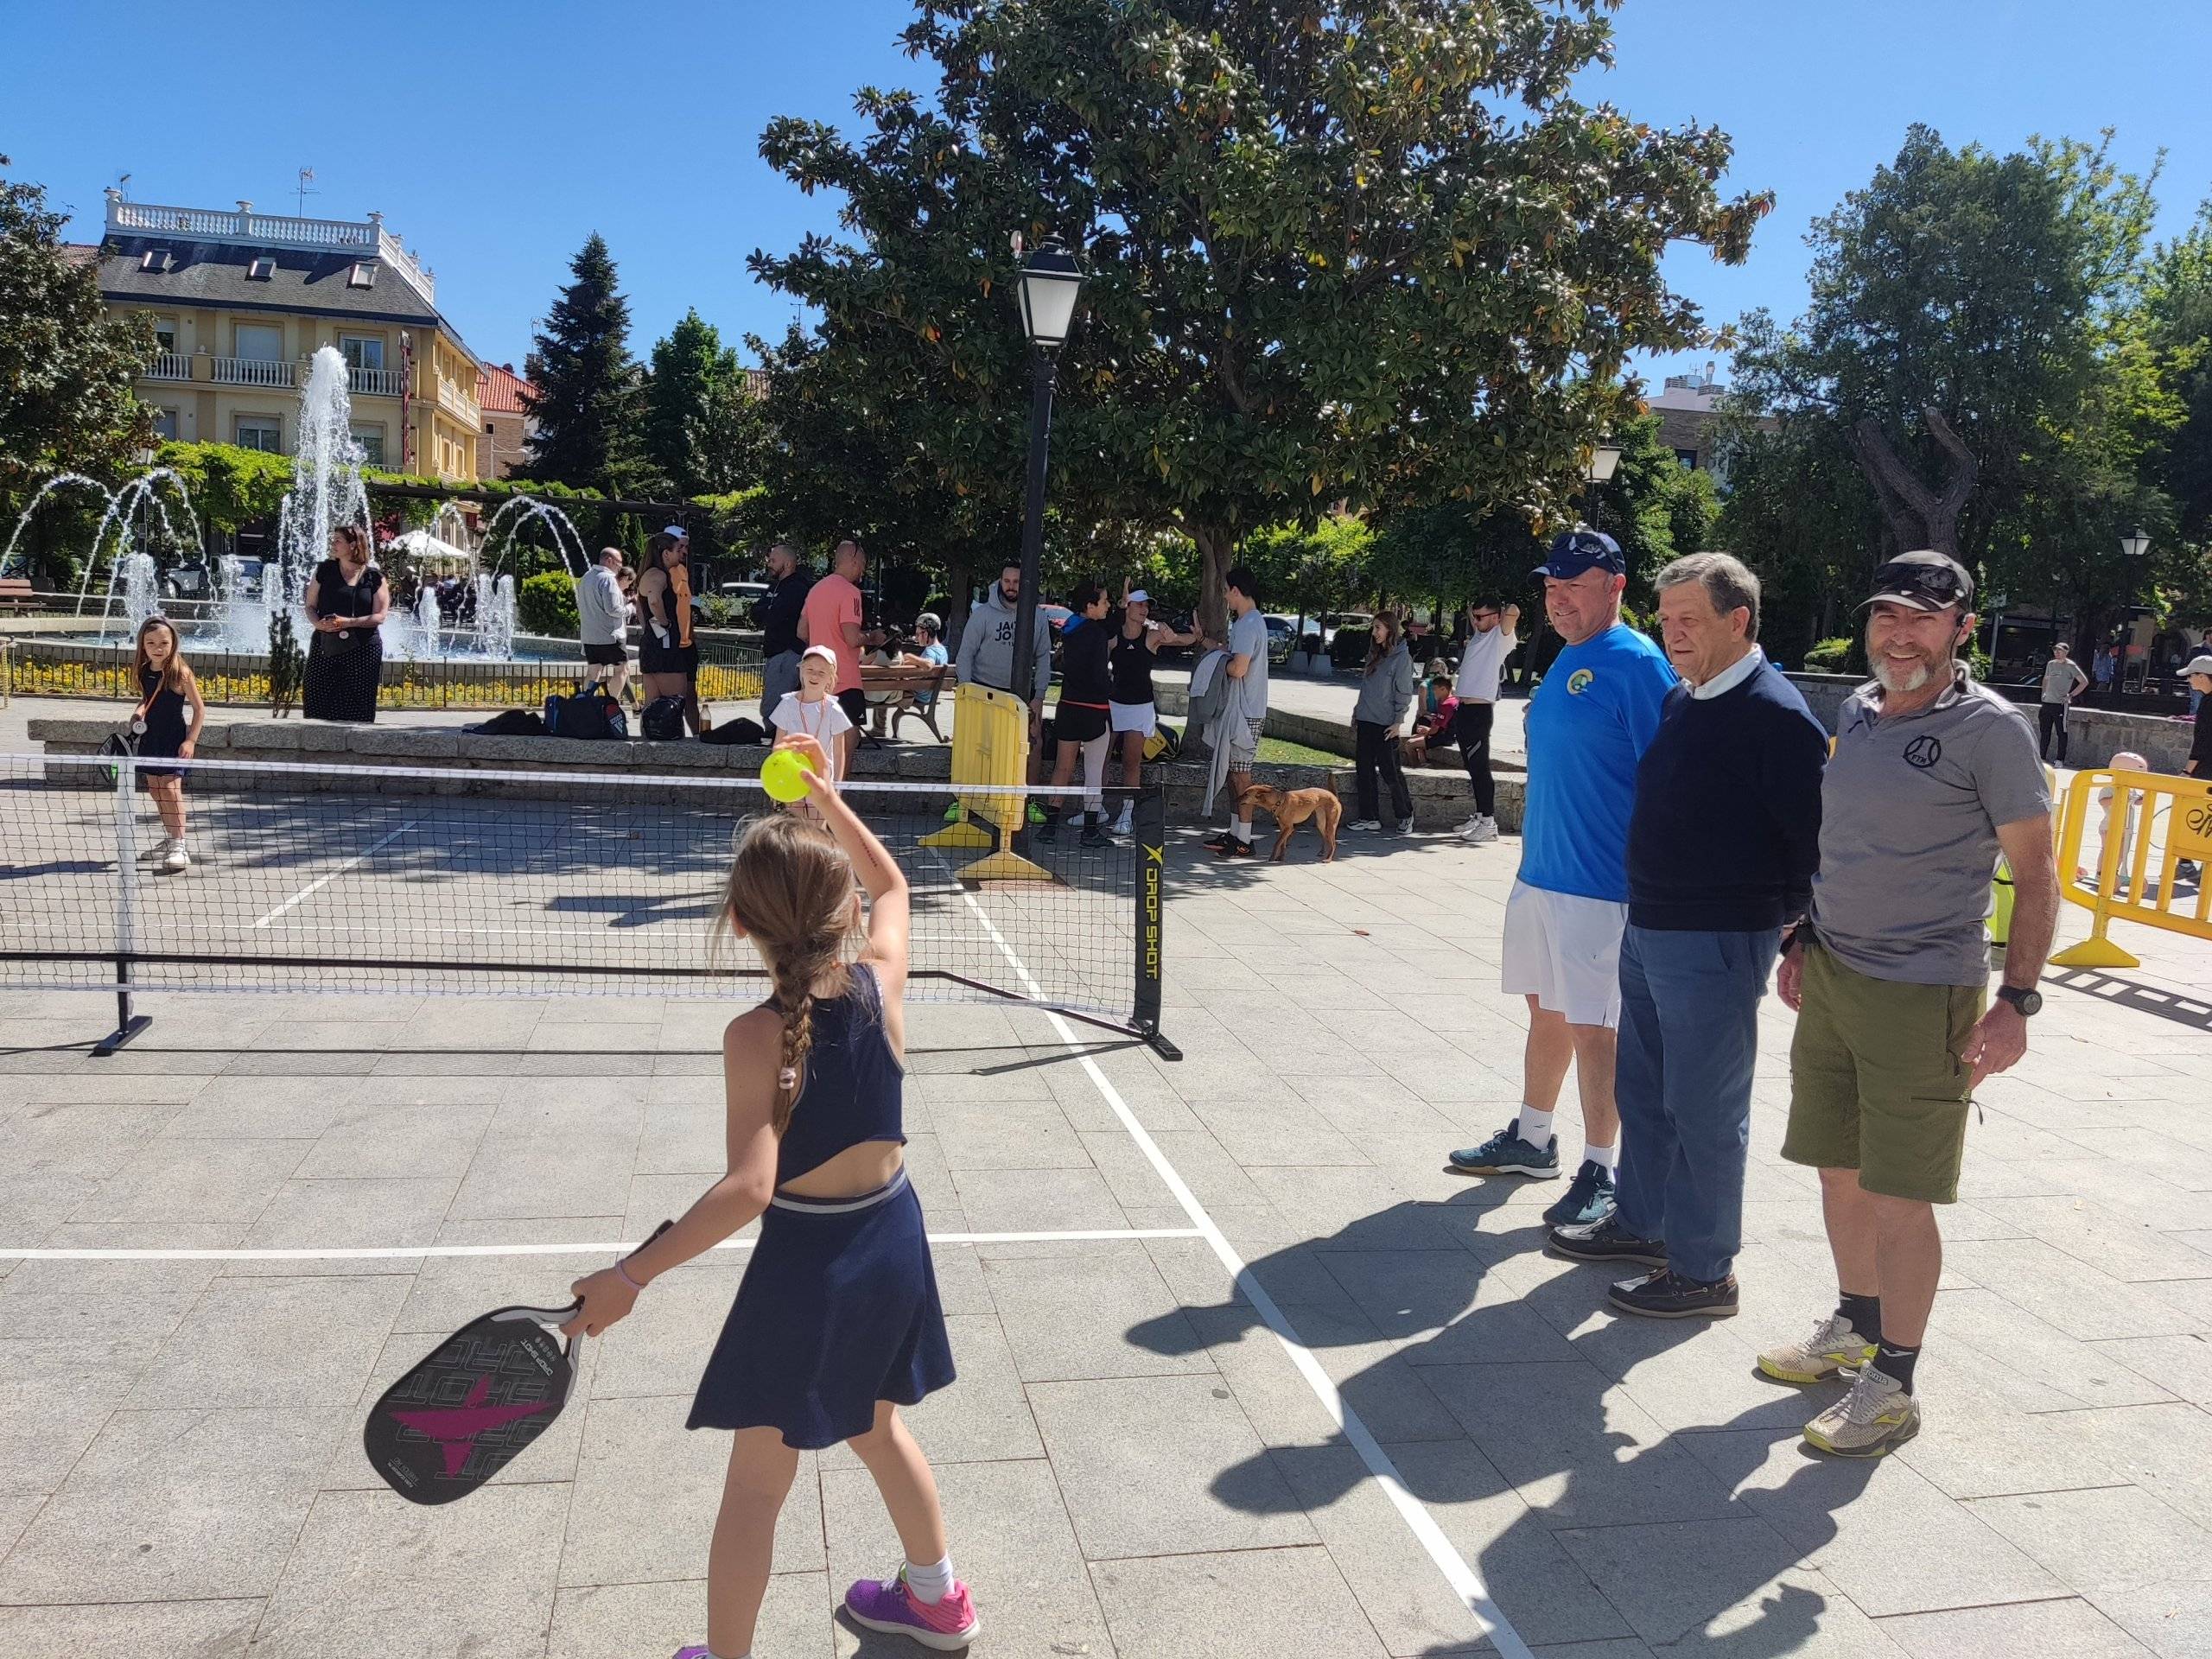
[[[575,281],[531,341],[526,471],[540,482],[626,493],[644,462],[630,303],[615,288],[615,259],[597,230],[568,270]]]

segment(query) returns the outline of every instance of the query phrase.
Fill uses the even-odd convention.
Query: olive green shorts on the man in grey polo
[[[1891,1199],[1955,1203],[1971,1077],[1960,1051],[1986,1000],[1980,984],[1876,980],[1807,945],[1783,1157],[1858,1170]]]

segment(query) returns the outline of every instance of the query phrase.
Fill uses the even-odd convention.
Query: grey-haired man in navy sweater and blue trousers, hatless
[[[1608,1301],[1650,1318],[1736,1312],[1759,1000],[1812,900],[1827,732],[1759,650],[1759,577],[1728,553],[1659,573],[1683,684],[1637,763],[1615,1095],[1615,1212],[1551,1228],[1577,1261],[1635,1261]]]

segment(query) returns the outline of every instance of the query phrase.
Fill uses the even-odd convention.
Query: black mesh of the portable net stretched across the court
[[[0,984],[113,991],[714,995],[765,973],[721,938],[734,836],[779,810],[759,779],[164,761],[184,869],[159,854],[155,763],[0,757]],[[153,785],[153,787],[150,787]],[[1029,869],[945,834],[953,792],[847,783],[914,898],[911,995],[1020,1000],[1135,1024],[1139,863],[1037,794]],[[971,816],[991,796],[960,790]],[[1124,796],[1126,799],[1126,796]],[[1119,801],[1108,801],[1117,812]],[[1002,814],[1011,823],[1022,812]],[[1144,814],[1139,814],[1144,816]],[[929,845],[929,841],[953,845]],[[993,838],[995,841],[995,838]],[[1002,867],[1004,869],[1004,867]]]

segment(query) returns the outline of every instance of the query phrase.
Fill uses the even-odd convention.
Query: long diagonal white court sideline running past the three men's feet
[[[1040,987],[1031,978],[1029,969],[1022,964],[1022,958],[1013,953],[1013,947],[1006,945],[998,927],[991,925],[991,918],[984,914],[982,905],[975,902],[975,894],[962,889],[962,896],[967,898],[969,909],[975,911],[975,920],[982,922],[982,929],[991,936],[991,942],[998,945],[1004,958],[1013,964],[1013,971],[1022,975],[1022,984],[1026,984],[1029,993],[1042,1002],[1044,987]],[[1522,1641],[1520,1632],[1506,1621],[1506,1615],[1491,1599],[1491,1590],[1482,1582],[1482,1575],[1475,1573],[1475,1568],[1469,1566],[1467,1557],[1460,1555],[1453,1542],[1444,1537],[1444,1528],[1436,1524],[1436,1515],[1431,1515],[1427,1506],[1405,1489],[1405,1475],[1398,1473],[1398,1464],[1391,1462],[1391,1455],[1383,1449],[1383,1442],[1376,1440],[1374,1431],[1365,1422],[1360,1422],[1360,1416],[1349,1405],[1345,1405],[1345,1396],[1338,1394],[1336,1385],[1329,1380],[1329,1374],[1321,1369],[1321,1360],[1314,1358],[1314,1352],[1305,1345],[1305,1338],[1301,1338],[1298,1332],[1292,1327],[1292,1323],[1283,1316],[1283,1310],[1276,1307],[1274,1296],[1267,1294],[1265,1285],[1259,1283],[1259,1279],[1245,1265],[1243,1256],[1237,1254],[1237,1245],[1232,1245],[1228,1237],[1221,1232],[1221,1228],[1214,1225],[1214,1219],[1206,1212],[1206,1206],[1199,1203],[1197,1194],[1190,1190],[1183,1177],[1177,1175],[1166,1152],[1159,1150],[1159,1144],[1146,1133],[1144,1124],[1137,1121],[1137,1115],[1128,1108],[1128,1102],[1121,1099],[1121,1091],[1117,1091],[1113,1082],[1106,1077],[1106,1073],[1099,1071],[1097,1062],[1077,1042],[1075,1031],[1068,1026],[1066,1020],[1062,1020],[1057,1013],[1046,1013],[1046,1020],[1053,1022],[1053,1029],[1060,1033],[1060,1042],[1066,1044],[1068,1053],[1073,1053],[1082,1062],[1082,1068],[1084,1073],[1088,1073],[1091,1084],[1099,1091],[1099,1097],[1106,1102],[1106,1106],[1113,1108],[1113,1115],[1121,1119],[1121,1128],[1128,1130],[1128,1137],[1137,1141],[1137,1150],[1144,1152],[1146,1159],[1150,1159],[1152,1170],[1157,1170],[1159,1179],[1168,1183],[1168,1190],[1175,1194],[1175,1201],[1183,1206],[1183,1214],[1190,1217],[1190,1225],[1197,1230],[1201,1239],[1206,1239],[1208,1245],[1212,1245],[1214,1256],[1237,1281],[1237,1290],[1243,1292],[1243,1298],[1252,1303],[1252,1310],[1267,1323],[1267,1329],[1274,1332],[1274,1338],[1283,1345],[1283,1352],[1290,1354],[1290,1363],[1298,1367],[1298,1376],[1305,1378],[1305,1385],[1314,1391],[1314,1398],[1321,1400],[1323,1411],[1327,1411],[1329,1418],[1336,1420],[1336,1427],[1345,1431],[1345,1440],[1349,1440],[1352,1449],[1360,1453],[1360,1462],[1367,1464],[1367,1473],[1374,1475],[1376,1484],[1383,1489],[1383,1495],[1389,1498],[1391,1509],[1396,1509],[1398,1517],[1407,1524],[1407,1531],[1413,1533],[1420,1546],[1429,1553],[1429,1559],[1436,1562],[1436,1568],[1444,1575],[1444,1582],[1451,1584],[1453,1595],[1460,1597],[1469,1615],[1473,1615],[1475,1624],[1482,1628],[1482,1635],[1486,1635],[1491,1639],[1491,1646],[1498,1648],[1500,1659],[1535,1659],[1535,1655],[1528,1650],[1528,1644]]]

